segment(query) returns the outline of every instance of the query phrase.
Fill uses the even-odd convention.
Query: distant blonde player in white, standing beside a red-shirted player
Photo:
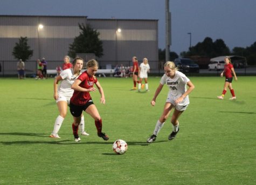
[[[142,80],[144,78],[146,91],[148,91],[148,72],[149,72],[150,66],[148,64],[148,59],[143,58],[143,62],[140,64],[140,82],[139,82],[139,92],[141,91],[141,88],[143,88],[144,84],[141,85]]]

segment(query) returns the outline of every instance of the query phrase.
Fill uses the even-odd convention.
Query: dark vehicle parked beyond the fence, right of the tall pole
[[[199,72],[199,65],[190,58],[176,58],[174,63],[181,72]]]

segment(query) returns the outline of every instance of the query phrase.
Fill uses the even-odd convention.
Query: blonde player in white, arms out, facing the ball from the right
[[[190,79],[186,77],[182,72],[179,72],[174,64],[174,62],[166,62],[164,64],[164,75],[160,80],[160,84],[158,85],[153,100],[151,101],[151,105],[155,106],[156,98],[158,94],[161,92],[164,84],[167,84],[169,87],[169,93],[167,96],[167,100],[164,105],[163,113],[160,119],[156,122],[156,127],[153,132],[153,135],[147,139],[148,143],[153,143],[156,140],[158,132],[163,127],[165,121],[168,119],[168,116],[172,109],[174,109],[174,113],[171,117],[172,123],[172,132],[169,135],[168,139],[172,140],[175,138],[179,131],[179,122],[178,118],[184,112],[184,110],[189,105],[189,94],[195,88]],[[188,90],[186,90],[186,86],[189,86]]]

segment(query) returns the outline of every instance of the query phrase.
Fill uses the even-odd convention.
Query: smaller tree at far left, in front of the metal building
[[[30,46],[27,45],[27,37],[20,36],[19,42],[15,43],[15,47],[13,48],[12,55],[23,61],[29,60],[33,55],[33,50],[30,50]]]

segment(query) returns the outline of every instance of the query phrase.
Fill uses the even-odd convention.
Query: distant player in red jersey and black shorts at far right
[[[234,72],[234,68],[233,68],[233,65],[231,64],[230,57],[226,56],[224,60],[225,60],[224,71],[220,74],[220,77],[223,77],[223,74],[225,73],[226,80],[224,84],[224,90],[222,91],[222,95],[218,96],[217,98],[223,100],[224,95],[227,92],[227,87],[229,87],[230,92],[232,94],[232,97],[230,98],[230,100],[234,100],[237,98],[236,98],[236,95],[234,95],[234,90],[232,88],[232,80],[233,80],[232,73],[236,81],[237,81],[237,75],[236,75],[236,72]]]

